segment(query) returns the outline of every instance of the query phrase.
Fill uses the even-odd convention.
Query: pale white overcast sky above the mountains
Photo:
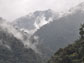
[[[0,0],[0,16],[14,20],[36,10],[65,11],[84,0]]]

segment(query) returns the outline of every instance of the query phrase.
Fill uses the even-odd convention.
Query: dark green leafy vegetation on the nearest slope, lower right
[[[84,24],[80,27],[80,38],[65,48],[60,48],[48,63],[84,63]]]

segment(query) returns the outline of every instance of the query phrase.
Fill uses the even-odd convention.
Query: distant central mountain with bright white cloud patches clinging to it
[[[30,13],[27,16],[16,19],[13,22],[13,25],[17,28],[34,33],[43,25],[53,21],[53,19],[56,19],[57,16],[58,14],[56,14],[51,9],[45,11],[35,11],[34,13]]]

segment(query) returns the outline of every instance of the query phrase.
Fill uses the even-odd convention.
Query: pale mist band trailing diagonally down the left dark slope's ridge
[[[27,35],[27,33],[20,31],[16,28],[14,28],[10,23],[8,23],[5,20],[0,20],[0,28],[2,30],[4,30],[5,32],[8,32],[9,34],[12,34],[14,37],[16,37],[17,39],[21,40],[23,42],[23,44],[25,45],[26,48],[31,48],[32,50],[34,50],[36,53],[40,53],[37,49],[37,45],[38,45],[38,37],[34,37],[32,40],[34,40],[34,42],[32,40],[30,40],[30,36],[31,35]],[[11,39],[10,39],[11,40]],[[1,43],[1,42],[0,42]],[[4,45],[5,47],[7,47],[8,49],[11,49],[9,46]]]

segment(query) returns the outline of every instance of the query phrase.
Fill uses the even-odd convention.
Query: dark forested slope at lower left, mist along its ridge
[[[8,24],[2,25],[1,22],[5,21],[0,19],[0,63],[41,63],[39,54],[32,48],[26,48],[20,35],[13,35],[14,29],[9,30]]]

